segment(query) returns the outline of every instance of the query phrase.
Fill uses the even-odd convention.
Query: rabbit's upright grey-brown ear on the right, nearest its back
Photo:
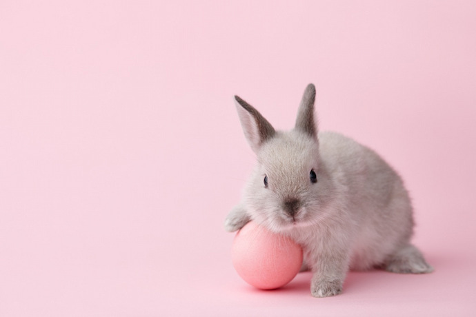
[[[299,110],[297,110],[295,130],[305,132],[309,136],[317,139],[317,123],[315,122],[314,118],[315,99],[316,88],[312,83],[310,83],[306,87],[306,90],[304,90],[304,95],[302,96]]]

